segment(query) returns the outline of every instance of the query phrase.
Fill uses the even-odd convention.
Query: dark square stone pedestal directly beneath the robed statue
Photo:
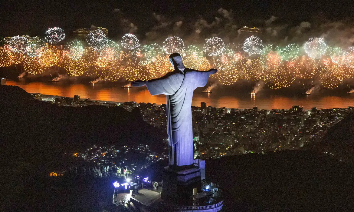
[[[193,203],[191,196],[201,191],[200,170],[197,166],[177,170],[165,167],[161,199],[177,204]]]

